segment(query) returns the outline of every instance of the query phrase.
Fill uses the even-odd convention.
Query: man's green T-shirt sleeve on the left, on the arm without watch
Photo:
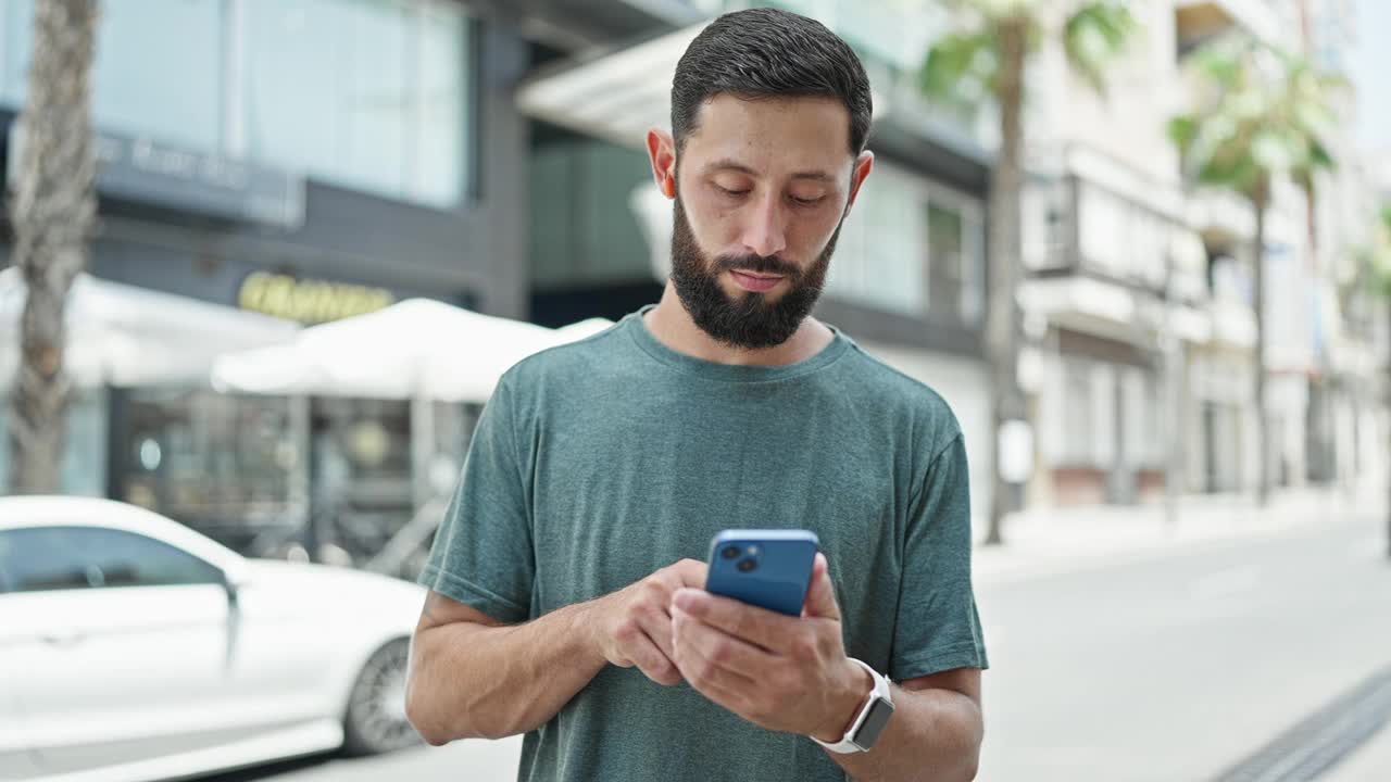
[[[536,575],[515,415],[504,377],[474,429],[459,486],[417,579],[506,623],[529,618]]]

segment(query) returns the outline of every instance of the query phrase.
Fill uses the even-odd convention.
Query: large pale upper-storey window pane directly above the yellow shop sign
[[[245,0],[245,153],[452,206],[463,171],[463,13],[399,0]]]

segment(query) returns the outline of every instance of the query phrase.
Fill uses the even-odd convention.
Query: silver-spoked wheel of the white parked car
[[[410,643],[396,639],[371,654],[353,682],[344,717],[344,751],[377,754],[420,743],[406,721],[406,660]]]

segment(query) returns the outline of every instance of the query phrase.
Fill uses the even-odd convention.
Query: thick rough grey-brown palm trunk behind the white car
[[[86,266],[96,214],[90,74],[96,0],[38,0],[29,95],[19,113],[18,181],[10,196],[14,264],[28,285],[11,395],[10,488],[58,488],[67,430],[64,303]],[[14,150],[11,150],[14,153]]]

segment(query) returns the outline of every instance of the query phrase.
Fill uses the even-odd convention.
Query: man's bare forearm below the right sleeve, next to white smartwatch
[[[861,673],[868,682],[869,675]],[[868,697],[869,689],[861,694]],[[844,729],[818,737],[839,742],[842,735]],[[968,782],[981,763],[983,735],[981,671],[957,668],[894,687],[893,717],[872,750],[826,754],[857,782]]]

